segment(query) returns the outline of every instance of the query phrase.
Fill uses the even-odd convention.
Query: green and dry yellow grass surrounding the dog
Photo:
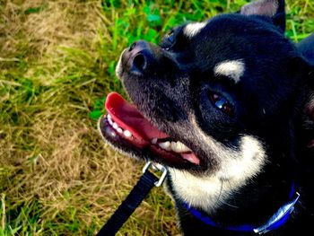
[[[94,235],[143,163],[100,139],[96,120],[119,53],[172,26],[235,12],[247,1],[0,0],[0,236]],[[287,36],[314,31],[314,4],[288,1]],[[118,235],[176,235],[153,192]]]

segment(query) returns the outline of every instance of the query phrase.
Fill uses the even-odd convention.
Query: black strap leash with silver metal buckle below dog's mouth
[[[161,171],[161,178],[156,177],[149,169]],[[118,206],[118,209],[111,215],[108,222],[102,226],[96,236],[113,236],[122,227],[126,220],[135,211],[138,205],[144,200],[151,189],[160,187],[167,175],[167,170],[160,164],[147,162],[143,169],[144,174],[137,181],[135,187],[131,190],[126,199]]]

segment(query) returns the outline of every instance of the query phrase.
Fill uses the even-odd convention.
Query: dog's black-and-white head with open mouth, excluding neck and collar
[[[307,72],[283,35],[283,4],[260,0],[126,48],[117,74],[134,105],[109,94],[102,134],[123,153],[235,185],[290,162]]]

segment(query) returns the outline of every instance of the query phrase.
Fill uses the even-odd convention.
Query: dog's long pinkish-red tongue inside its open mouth
[[[119,127],[127,129],[137,138],[151,141],[153,138],[166,138],[169,135],[162,133],[144,118],[135,105],[127,102],[117,92],[110,92],[105,103],[110,116]]]

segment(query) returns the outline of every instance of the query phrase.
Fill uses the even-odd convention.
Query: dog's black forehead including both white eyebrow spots
[[[233,83],[239,83],[253,66],[273,67],[274,54],[284,57],[283,35],[263,18],[222,14],[205,22],[190,22],[179,30],[187,42],[180,56],[187,55],[198,72],[223,76]]]

